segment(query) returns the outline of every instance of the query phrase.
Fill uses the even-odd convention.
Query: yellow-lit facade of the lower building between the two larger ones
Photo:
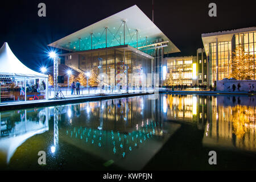
[[[174,85],[191,85],[193,78],[193,57],[184,59],[167,59],[168,73],[172,72]]]

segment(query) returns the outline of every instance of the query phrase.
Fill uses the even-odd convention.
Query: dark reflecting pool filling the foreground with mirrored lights
[[[255,96],[154,98],[1,111],[0,169],[256,168]]]

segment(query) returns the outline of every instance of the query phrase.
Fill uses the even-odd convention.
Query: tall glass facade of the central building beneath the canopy
[[[130,74],[138,73],[139,76],[142,76],[144,73],[147,76],[147,73],[151,73],[151,59],[133,51],[105,49],[80,53],[79,69],[84,72],[91,72],[93,69],[97,75],[100,73],[107,75],[105,81],[108,85],[117,85],[118,75],[119,77],[127,76],[129,86],[133,86],[134,80],[131,79]],[[139,85],[135,86],[141,85],[142,77],[139,80]]]

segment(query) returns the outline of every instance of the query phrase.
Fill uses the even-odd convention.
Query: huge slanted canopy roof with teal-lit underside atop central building
[[[123,23],[124,21],[125,23]],[[165,53],[180,52],[174,43],[136,5],[65,36],[48,46],[72,52],[124,44],[136,48],[137,38],[138,47],[156,42],[167,42],[167,46],[164,47]]]

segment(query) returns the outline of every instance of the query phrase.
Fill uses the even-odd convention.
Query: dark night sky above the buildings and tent
[[[40,2],[46,3],[46,18],[38,16]],[[217,5],[217,17],[208,16],[211,2]],[[196,49],[203,47],[202,33],[256,26],[255,0],[155,0],[154,4],[154,23],[181,51],[175,56],[196,55]],[[8,42],[19,60],[39,71],[41,65],[52,64],[47,44],[133,5],[152,19],[151,0],[1,1],[0,44]]]

